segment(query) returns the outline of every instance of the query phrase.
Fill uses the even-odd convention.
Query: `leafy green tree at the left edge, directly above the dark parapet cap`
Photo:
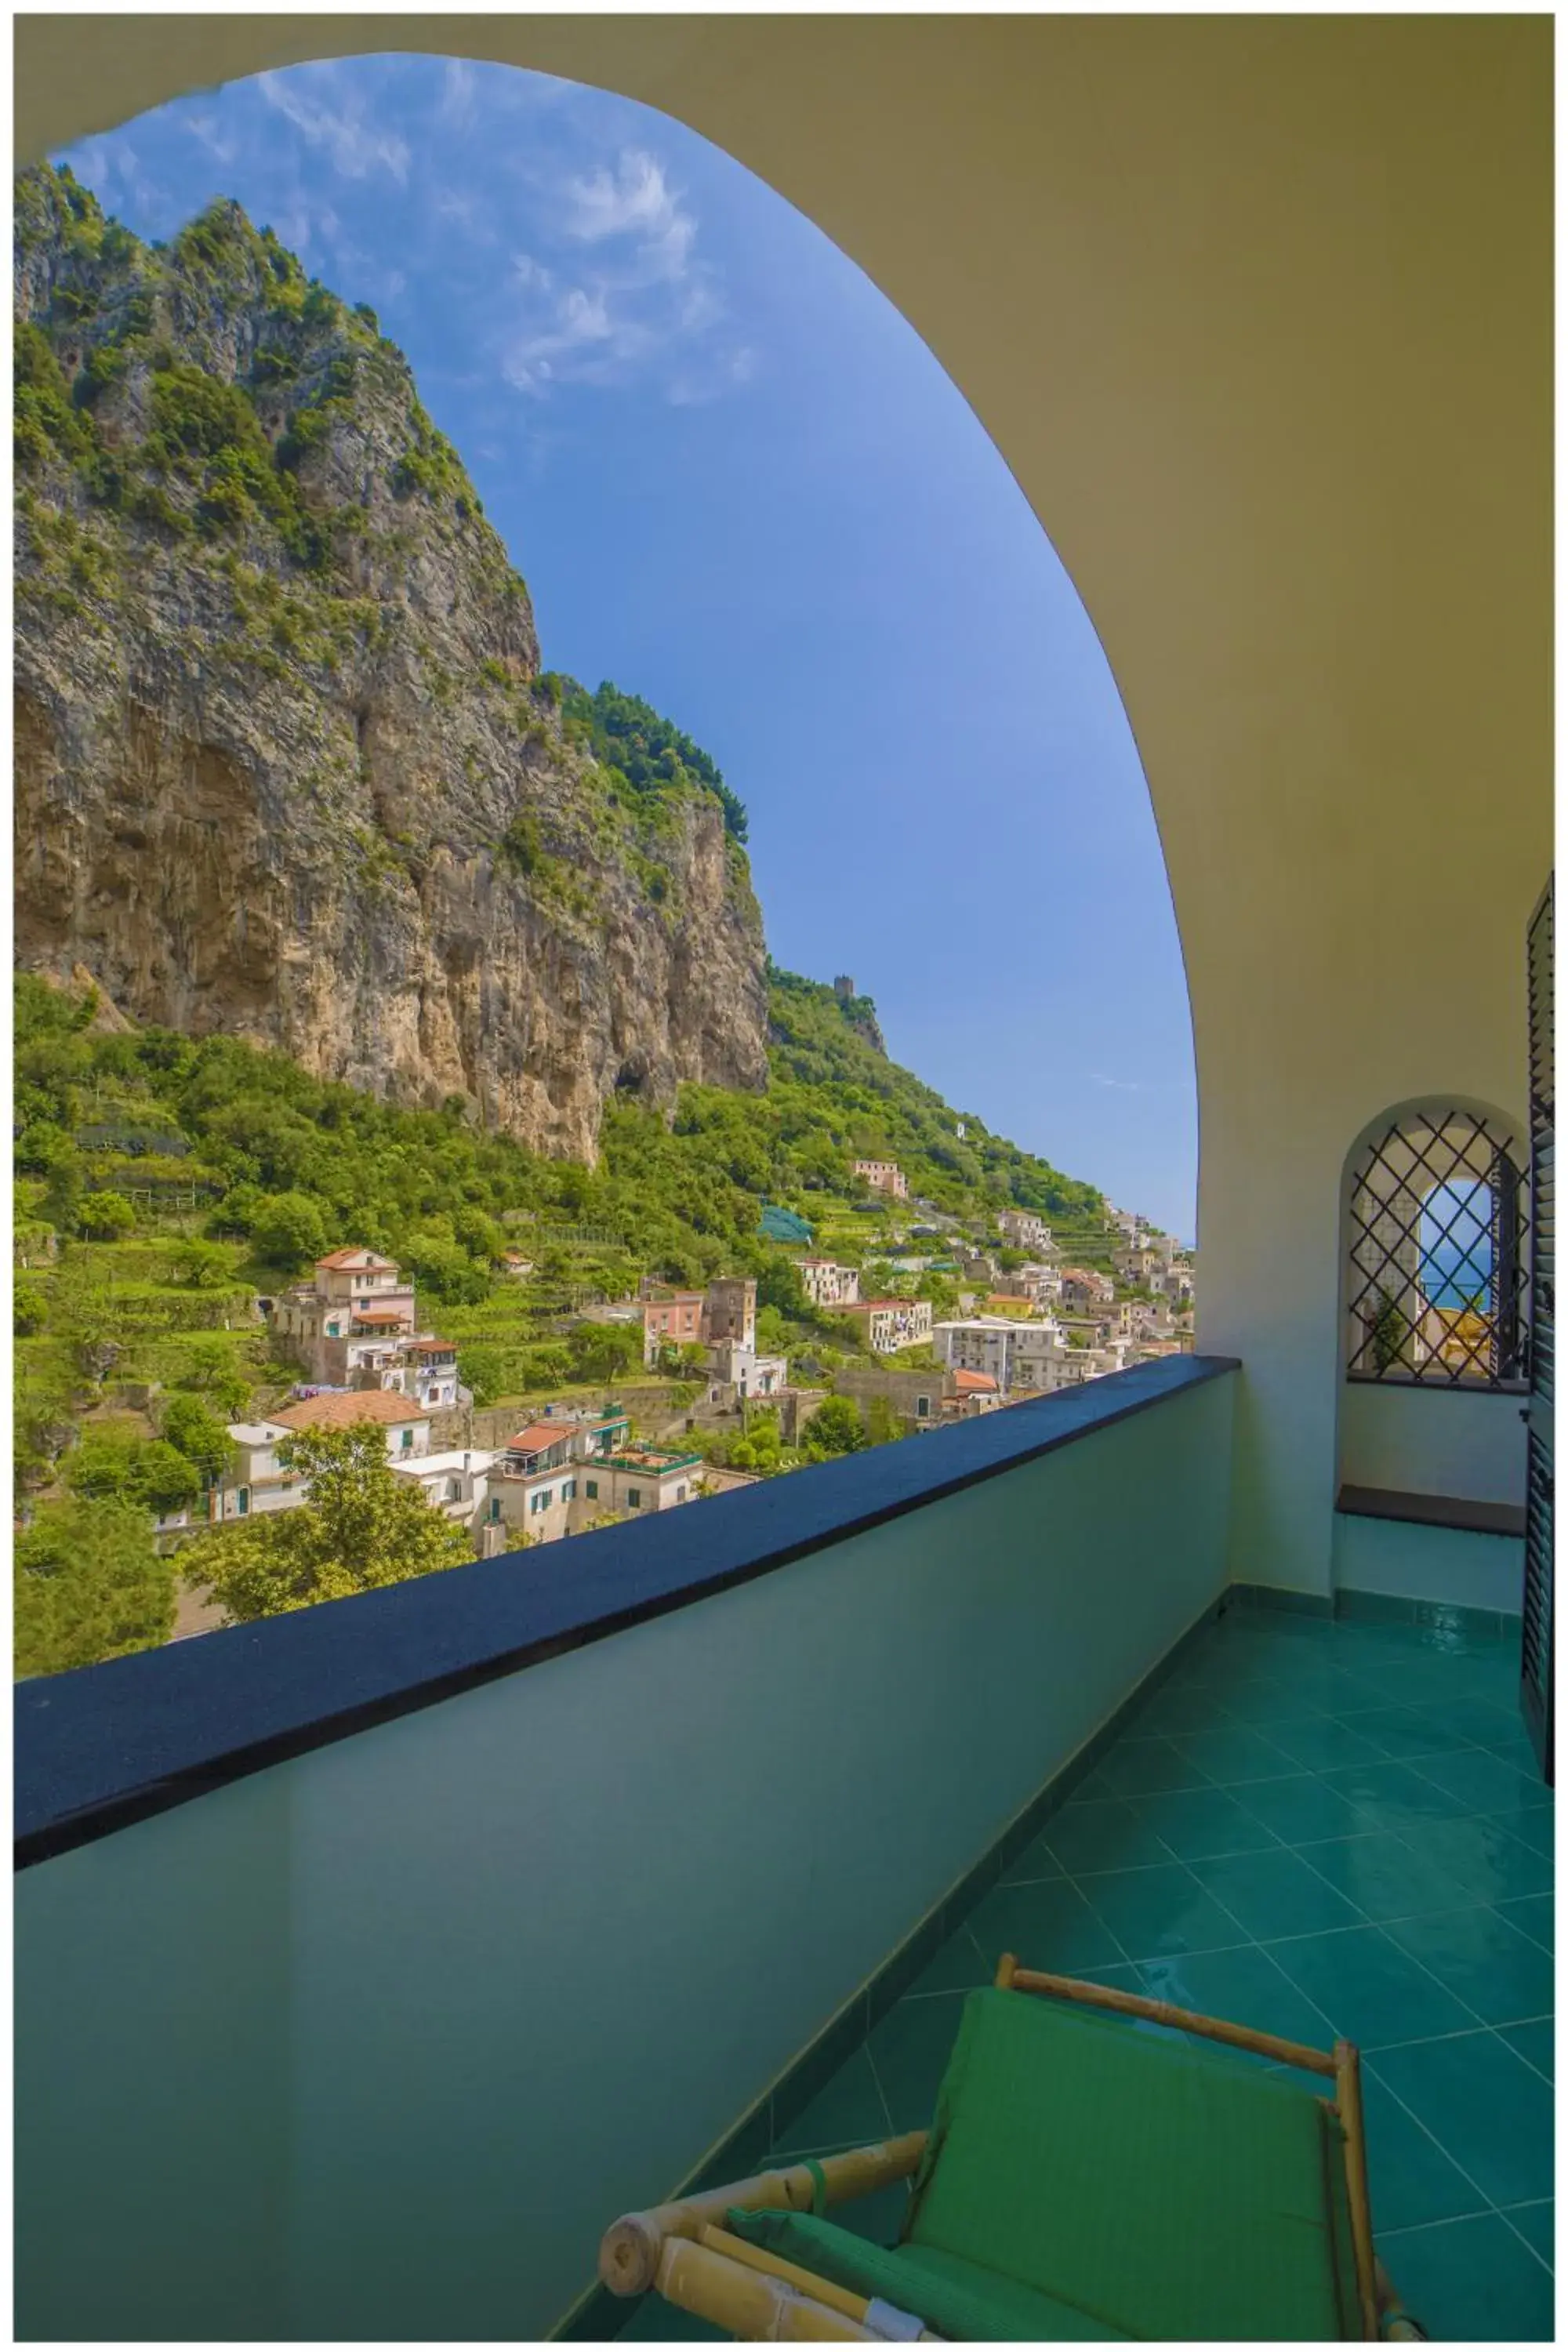
[[[134,1503],[45,1503],[14,1552],[16,1675],[155,1649],[174,1632],[174,1566]]]

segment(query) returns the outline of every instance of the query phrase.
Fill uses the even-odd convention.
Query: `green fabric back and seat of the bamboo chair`
[[[954,2340],[1361,2333],[1319,2093],[1025,1992],[964,2002],[900,2246],[809,2216],[731,2227]]]

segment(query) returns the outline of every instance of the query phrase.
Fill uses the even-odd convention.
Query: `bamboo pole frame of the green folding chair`
[[[1333,2096],[1324,2096],[1324,2105],[1338,2117],[1345,2133],[1345,2190],[1361,2336],[1363,2340],[1382,2336],[1422,2340],[1425,2331],[1408,2319],[1373,2253],[1361,2053],[1354,2042],[1335,2042],[1333,2051],[1314,2051],[1305,2042],[1284,2042],[1279,2034],[1232,2025],[1227,2018],[1201,2018],[1192,2009],[1173,2009],[1171,2002],[1154,2002],[1140,1992],[1117,1992],[1110,1985],[1088,1985],[1077,1976],[1020,1969],[1011,1952],[1001,1955],[997,1987],[1147,2018],[1152,2025],[1201,2034],[1208,2042],[1253,2051],[1276,2065],[1302,2067],[1333,2082]],[[832,2279],[818,2279],[816,2272],[785,2263],[762,2246],[750,2246],[724,2227],[724,2216],[731,2206],[748,2213],[809,2213],[818,2204],[835,2206],[867,2197],[893,2180],[907,2180],[926,2152],[926,2138],[924,2131],[907,2131],[893,2140],[823,2157],[816,2166],[788,2164],[778,2171],[752,2173],[750,2180],[703,2190],[696,2197],[677,2197],[646,2213],[623,2213],[599,2244],[599,2279],[616,2296],[642,2296],[658,2288],[665,2303],[693,2312],[745,2343],[773,2338],[785,2343],[884,2343],[865,2296],[856,2296]],[[938,2338],[922,2328],[919,2340],[936,2343]]]

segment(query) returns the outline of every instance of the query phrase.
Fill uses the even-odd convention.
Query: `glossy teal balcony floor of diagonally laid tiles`
[[[1554,1809],[1516,1675],[1507,1642],[1227,1613],[773,2159],[929,2124],[959,1999],[1013,1950],[1359,2042],[1378,2249],[1406,2305],[1434,2338],[1552,2338]],[[835,2218],[891,2244],[900,2206],[886,2190]],[[649,2296],[625,2336],[712,2331]]]

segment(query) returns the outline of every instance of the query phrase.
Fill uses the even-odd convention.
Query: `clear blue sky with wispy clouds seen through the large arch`
[[[529,581],[750,809],[769,946],[954,1108],[1192,1237],[1175,917],[1114,680],[985,430],[741,165],[545,75],[383,56],[66,158],[167,238],[237,195],[407,350]]]

